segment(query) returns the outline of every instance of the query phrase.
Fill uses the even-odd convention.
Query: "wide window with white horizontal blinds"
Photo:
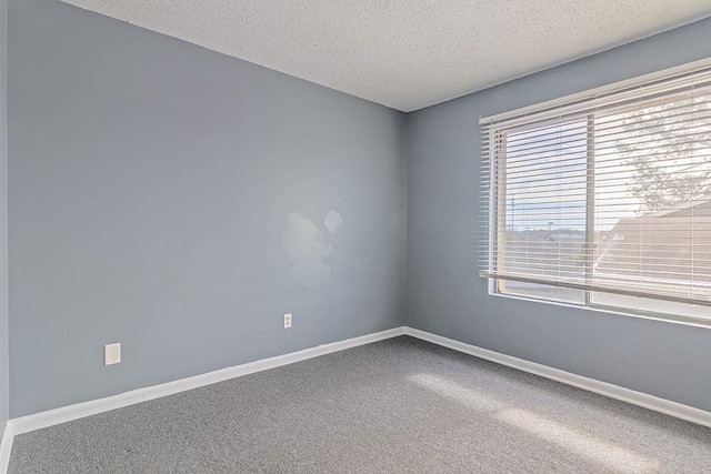
[[[494,292],[711,323],[711,68],[482,130]]]

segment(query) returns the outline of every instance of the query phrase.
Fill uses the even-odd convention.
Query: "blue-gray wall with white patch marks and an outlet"
[[[401,113],[58,0],[10,18],[11,416],[403,323]]]

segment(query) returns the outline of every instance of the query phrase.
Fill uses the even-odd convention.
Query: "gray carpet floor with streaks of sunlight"
[[[711,472],[711,430],[402,336],[14,438],[10,473]]]

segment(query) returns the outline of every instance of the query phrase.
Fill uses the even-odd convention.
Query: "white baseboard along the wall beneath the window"
[[[642,406],[644,409],[664,413],[667,415],[685,420],[688,422],[711,427],[711,412],[694,409],[693,406],[672,402],[665,399],[660,399],[647,393],[635,392],[633,390],[624,389],[619,385],[589,379],[582,375],[573,374],[571,372],[553,369],[548,365],[538,364],[535,362],[530,362],[523,359],[513,357],[511,355],[501,354],[499,352],[489,351],[488,349],[482,349],[460,341],[454,341],[452,339],[417,330],[414,327],[405,326],[404,333],[409,336],[431,342],[432,344],[441,345],[443,347],[463,352],[464,354],[473,355],[479,359],[495,362],[497,364],[507,365],[509,367],[518,369],[523,372],[529,372],[531,374],[540,375],[545,379],[577,386],[578,389],[583,389],[589,392],[594,392],[600,395],[631,403],[632,405]]]

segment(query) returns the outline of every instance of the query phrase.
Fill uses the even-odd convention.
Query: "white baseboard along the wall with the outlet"
[[[357,347],[359,345],[397,337],[399,335],[404,335],[404,327],[394,327],[388,331],[367,334],[353,339],[347,339],[344,341],[333,342],[329,344],[322,344],[316,347],[304,349],[302,351],[291,352],[289,354],[277,355],[274,357],[262,359],[259,361],[249,362],[247,364],[221,369],[219,371],[208,372],[206,374],[194,375],[173,382],[132,390],[119,395],[107,396],[106,399],[92,400],[89,402],[49,410],[47,412],[21,416],[8,422],[8,426],[10,426],[12,435],[28,433],[34,430],[40,430],[72,420],[82,418],[84,416],[96,415],[98,413],[121,409],[123,406],[147,402],[149,400],[160,399],[162,396],[168,396],[174,393],[198,389],[218,382],[223,382],[226,380],[249,375],[256,372],[262,372],[270,369],[280,367],[282,365],[293,364],[294,362],[306,361],[308,359],[318,357],[320,355],[344,351],[347,349]],[[7,430],[8,428],[6,428],[6,433]]]

